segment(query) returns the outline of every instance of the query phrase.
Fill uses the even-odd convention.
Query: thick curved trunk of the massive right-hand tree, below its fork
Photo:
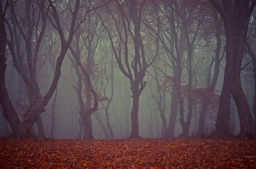
[[[240,119],[239,137],[255,138],[256,137],[255,123],[251,116],[247,98],[244,94],[244,91],[241,85],[241,80],[240,80],[240,72],[241,72],[240,67],[241,67],[241,61],[243,59],[243,55],[245,51],[244,46],[245,46],[246,33],[247,33],[247,30],[246,31],[244,30],[241,32],[237,32],[235,30],[226,32],[227,39],[229,39],[229,41],[227,42],[226,67],[228,70],[227,74],[229,78],[230,92],[235,100],[239,119]],[[245,34],[245,36],[244,38],[242,37],[239,38],[237,37],[238,34]]]

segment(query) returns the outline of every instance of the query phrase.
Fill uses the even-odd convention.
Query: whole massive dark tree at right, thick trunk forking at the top
[[[256,127],[241,86],[241,63],[245,52],[245,42],[250,15],[256,0],[209,0],[221,15],[226,35],[226,69],[230,92],[235,100],[240,119],[239,137],[256,137]]]

